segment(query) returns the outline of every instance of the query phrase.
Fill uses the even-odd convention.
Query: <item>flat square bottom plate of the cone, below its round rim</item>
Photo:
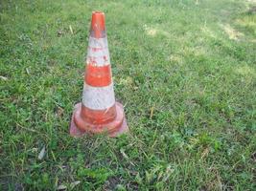
[[[117,107],[122,107],[122,110],[123,110],[122,104],[119,103],[119,102],[116,102],[116,103],[117,103],[116,106]],[[84,135],[84,134],[93,135],[92,132],[83,131],[80,128],[78,128],[78,126],[76,125],[76,123],[74,121],[74,115],[75,115],[76,111],[80,110],[80,109],[81,109],[81,103],[76,104],[73,115],[72,115],[72,118],[71,118],[71,121],[70,121],[70,126],[69,126],[70,136],[75,137],[75,138],[81,138],[81,136]],[[127,123],[126,117],[124,116],[122,125],[119,128],[116,128],[116,130],[114,132],[107,133],[107,135],[110,138],[116,138],[116,137],[118,137],[122,134],[125,134],[125,133],[128,133],[128,123]]]

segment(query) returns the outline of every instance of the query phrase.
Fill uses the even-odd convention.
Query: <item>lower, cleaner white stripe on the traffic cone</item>
[[[92,110],[105,110],[115,104],[113,83],[105,87],[83,84],[82,104]]]

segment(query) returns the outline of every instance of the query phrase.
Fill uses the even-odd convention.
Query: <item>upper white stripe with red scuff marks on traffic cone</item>
[[[110,63],[106,37],[89,37],[86,62],[87,64],[95,64],[97,66],[105,66]]]

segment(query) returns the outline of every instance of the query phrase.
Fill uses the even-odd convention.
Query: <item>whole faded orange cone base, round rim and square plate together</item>
[[[123,105],[116,102],[117,117],[106,124],[91,124],[81,118],[81,103],[75,105],[74,113],[70,122],[70,135],[80,138],[84,134],[106,133],[110,138],[115,138],[128,132],[128,124],[124,114]]]

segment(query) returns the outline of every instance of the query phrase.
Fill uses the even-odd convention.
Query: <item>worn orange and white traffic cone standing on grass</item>
[[[70,135],[107,133],[116,137],[128,131],[123,105],[115,101],[105,32],[105,13],[93,11],[84,74],[82,101],[75,105]]]

